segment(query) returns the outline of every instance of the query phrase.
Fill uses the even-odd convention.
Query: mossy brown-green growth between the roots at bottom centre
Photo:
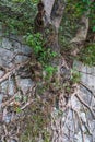
[[[20,140],[22,142],[37,142],[41,137],[44,142],[50,142],[50,133],[47,125],[50,121],[48,117],[49,104],[35,99],[27,109],[25,109],[25,121],[23,121],[23,134]]]

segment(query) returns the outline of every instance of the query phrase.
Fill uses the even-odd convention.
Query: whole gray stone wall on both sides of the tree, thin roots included
[[[10,121],[14,117],[8,110],[7,105],[10,104],[11,98],[14,99],[14,96],[20,97],[21,91],[25,97],[27,91],[32,90],[34,85],[31,78],[22,76],[23,67],[21,70],[15,70],[16,64],[19,66],[28,59],[31,51],[29,47],[21,44],[21,37],[11,35],[11,38],[1,37],[0,39],[0,142],[5,142],[5,140],[8,142],[19,141],[16,137],[17,127],[15,123],[10,126]],[[81,62],[75,62],[75,66],[82,74],[81,82],[83,85],[79,90],[81,98],[71,97],[70,106],[72,109],[69,109],[67,116],[63,114],[62,118],[57,121],[59,129],[61,121],[61,131],[58,133],[61,138],[57,135],[54,142],[95,142],[95,68],[83,66]],[[12,68],[14,68],[12,73],[4,76]],[[20,90],[15,88],[14,74]],[[4,76],[3,80],[2,76]],[[4,99],[8,100],[8,104],[3,104]]]

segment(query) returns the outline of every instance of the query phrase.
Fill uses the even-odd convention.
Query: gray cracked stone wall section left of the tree
[[[0,142],[5,142],[5,140],[9,142],[19,141],[15,134],[17,127],[15,128],[15,133],[13,133],[12,129],[14,129],[15,125],[11,126],[10,129],[5,126],[14,117],[17,117],[15,115],[12,116],[11,110],[8,110],[8,106],[12,105],[10,100],[13,99],[12,102],[14,102],[14,96],[20,99],[21,92],[23,92],[23,97],[25,97],[27,91],[34,85],[31,78],[22,76],[25,73],[23,70],[26,64],[24,63],[31,52],[32,49],[29,47],[22,45],[21,37],[16,38],[11,35],[10,38],[1,37],[0,39]],[[17,68],[22,62],[24,66]],[[15,78],[19,84],[17,88]],[[4,104],[5,99],[8,104]]]

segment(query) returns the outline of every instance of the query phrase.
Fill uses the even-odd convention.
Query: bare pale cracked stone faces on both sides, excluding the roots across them
[[[15,37],[13,37],[15,38]],[[0,43],[0,67],[4,68],[11,68],[15,63],[21,63],[22,61],[26,61],[28,59],[27,56],[16,56],[13,61],[12,58],[15,54],[23,52],[23,54],[29,54],[32,49],[27,47],[26,45],[22,45],[17,40],[12,40],[8,38],[2,38],[2,42]],[[85,100],[85,103],[93,108],[93,111],[95,113],[95,68],[90,68],[86,66],[83,66],[81,62],[75,62],[75,67],[78,71],[81,72],[82,78],[81,81],[84,83],[88,90],[93,92],[93,94],[84,86],[80,87],[80,96]],[[19,73],[19,72],[17,72]],[[4,70],[0,68],[0,78],[4,74]],[[20,74],[16,75],[20,91],[24,93],[24,95],[27,93],[28,88],[31,88],[34,84],[32,79],[29,78],[21,78]],[[13,96],[15,93],[15,80],[13,76],[10,76],[5,81],[0,83],[0,104],[2,103],[5,95]],[[81,118],[80,122],[78,121],[79,116],[76,114],[73,114],[72,110],[69,110],[67,114],[67,118],[64,118],[66,114],[61,118],[61,127],[62,132],[61,138],[58,141],[54,142],[82,142],[82,132],[80,127],[82,127],[82,131],[84,133],[84,142],[95,142],[95,119],[92,117],[90,110],[85,106],[83,106],[79,99],[73,96],[71,97],[71,105],[72,108],[74,108],[76,111],[79,111],[79,116]],[[0,107],[0,120],[1,120],[1,107]],[[3,121],[5,123],[9,123],[11,121],[11,113],[8,113],[8,110],[4,109]],[[58,128],[60,121],[57,121]],[[88,129],[88,130],[87,130]],[[2,134],[2,127],[0,127],[0,138]],[[68,137],[69,134],[69,137]],[[58,137],[58,135],[57,135]],[[15,142],[15,139],[10,138],[11,142]]]

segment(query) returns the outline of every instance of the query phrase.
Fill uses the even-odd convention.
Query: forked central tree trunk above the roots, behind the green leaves
[[[43,4],[44,7],[40,10],[38,9],[38,13],[35,17],[35,31],[43,33],[44,38],[47,39],[47,47],[50,47],[54,51],[60,52],[58,29],[66,4],[62,0],[41,0],[39,5]],[[47,31],[49,31],[49,33]]]

